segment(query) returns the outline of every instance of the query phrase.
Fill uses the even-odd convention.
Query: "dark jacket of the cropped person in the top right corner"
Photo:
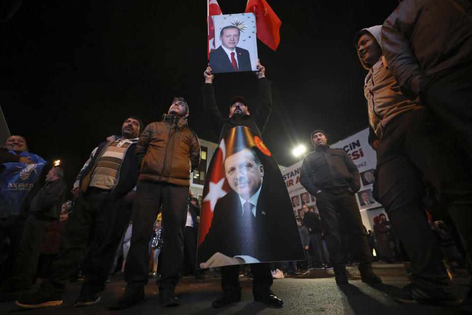
[[[385,59],[402,93],[415,98],[425,79],[472,64],[470,0],[403,0],[383,22]]]

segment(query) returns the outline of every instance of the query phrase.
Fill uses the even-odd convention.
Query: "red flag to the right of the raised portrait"
[[[282,22],[266,0],[248,0],[244,12],[256,15],[257,38],[269,48],[277,50],[280,43],[279,29]]]

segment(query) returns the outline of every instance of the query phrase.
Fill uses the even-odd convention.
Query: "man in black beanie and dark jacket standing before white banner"
[[[357,166],[346,151],[331,149],[326,145],[324,130],[313,131],[311,140],[315,151],[303,158],[300,182],[309,193],[316,196],[336,284],[348,284],[346,257],[341,250],[340,225],[346,228],[352,240],[352,252],[359,262],[362,282],[381,283],[382,280],[372,271],[372,256],[354,197],[360,188]]]

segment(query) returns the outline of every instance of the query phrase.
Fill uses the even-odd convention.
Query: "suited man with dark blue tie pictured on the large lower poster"
[[[216,202],[197,262],[214,267],[284,261],[289,256],[303,259],[294,246],[299,236],[290,199],[282,208],[278,189],[264,181],[264,165],[256,150],[236,147],[228,153],[224,170],[231,190]]]

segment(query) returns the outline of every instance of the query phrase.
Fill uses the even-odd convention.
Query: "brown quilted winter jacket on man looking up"
[[[190,186],[190,172],[200,163],[200,144],[183,117],[164,114],[149,124],[136,144],[140,181]]]

